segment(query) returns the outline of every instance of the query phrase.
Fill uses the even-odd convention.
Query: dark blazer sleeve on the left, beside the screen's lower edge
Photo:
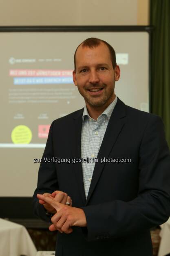
[[[37,194],[53,193],[58,190],[57,172],[54,162],[48,162],[47,159],[54,157],[53,155],[53,123],[49,130],[49,136],[46,142],[44,154],[41,159],[40,168],[38,171],[38,185],[33,194],[33,211],[36,216],[49,222],[49,217],[46,216],[44,206],[40,204]]]

